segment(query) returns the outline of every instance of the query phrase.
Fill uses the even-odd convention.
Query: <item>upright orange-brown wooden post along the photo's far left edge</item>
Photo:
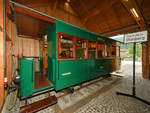
[[[3,0],[0,1],[0,108],[4,102],[4,20]]]

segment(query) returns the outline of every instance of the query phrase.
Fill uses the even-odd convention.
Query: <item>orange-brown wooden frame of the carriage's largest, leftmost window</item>
[[[66,58],[66,57],[61,57],[60,54],[61,54],[61,40],[60,38],[61,37],[67,37],[68,39],[70,38],[70,40],[72,40],[72,57],[71,58]],[[69,35],[69,34],[65,34],[65,33],[57,33],[57,59],[58,60],[61,60],[61,61],[69,61],[69,60],[75,60],[76,59],[76,52],[75,52],[75,42],[76,41],[76,38],[72,35]]]

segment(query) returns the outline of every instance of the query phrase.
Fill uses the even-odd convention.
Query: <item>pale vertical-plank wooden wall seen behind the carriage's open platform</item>
[[[15,68],[18,68],[19,64],[18,64],[17,57],[39,56],[39,40],[18,37],[17,31],[16,31],[16,25],[14,23],[11,23],[11,30],[12,30],[11,31],[11,43],[13,45],[12,47],[14,50],[14,52],[12,51],[11,54],[16,56]]]

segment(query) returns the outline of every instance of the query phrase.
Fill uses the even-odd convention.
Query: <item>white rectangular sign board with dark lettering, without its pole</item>
[[[146,42],[147,35],[148,35],[147,31],[125,34],[124,43]]]

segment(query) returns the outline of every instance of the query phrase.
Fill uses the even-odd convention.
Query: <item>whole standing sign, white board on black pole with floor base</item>
[[[135,98],[139,101],[142,101],[142,102],[150,105],[150,102],[136,96],[136,86],[135,86],[136,43],[146,42],[146,41],[147,41],[147,31],[126,34],[124,36],[124,43],[133,43],[133,86],[132,86],[132,94],[126,94],[126,93],[121,93],[121,92],[116,92],[116,94],[132,97],[132,98]]]

